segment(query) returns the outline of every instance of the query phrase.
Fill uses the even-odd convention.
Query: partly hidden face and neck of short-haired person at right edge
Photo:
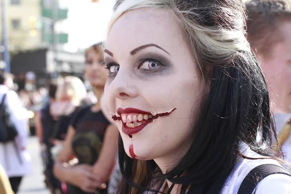
[[[291,21],[280,25],[284,41],[259,58],[276,113],[291,113]]]

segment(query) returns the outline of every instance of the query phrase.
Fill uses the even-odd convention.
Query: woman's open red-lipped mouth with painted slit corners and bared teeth
[[[117,115],[112,115],[114,121],[121,120],[122,121],[122,131],[132,137],[132,134],[138,133],[142,129],[146,127],[146,125],[150,124],[154,119],[159,117],[167,116],[173,113],[176,110],[173,109],[170,112],[166,113],[158,113],[156,115],[152,115],[149,112],[145,112],[139,109],[134,108],[126,108],[126,109],[117,109]]]

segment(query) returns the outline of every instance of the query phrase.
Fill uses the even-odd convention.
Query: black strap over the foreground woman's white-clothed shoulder
[[[243,179],[238,194],[252,194],[259,182],[269,175],[283,174],[291,176],[290,171],[275,164],[262,164],[251,170]]]

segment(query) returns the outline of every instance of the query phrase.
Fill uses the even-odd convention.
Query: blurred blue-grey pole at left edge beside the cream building
[[[5,9],[5,0],[1,1],[1,29],[2,29],[2,45],[4,47],[3,50],[3,60],[5,63],[5,71],[10,73],[10,56],[8,49],[8,37],[7,37],[7,25],[6,25],[6,9]]]

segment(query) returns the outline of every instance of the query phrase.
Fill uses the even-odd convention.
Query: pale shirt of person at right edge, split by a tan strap
[[[276,113],[274,117],[277,134],[279,134],[283,129],[284,125],[288,122],[289,119],[291,119],[291,114]],[[283,144],[282,151],[284,153],[285,159],[288,162],[291,162],[291,136]]]

